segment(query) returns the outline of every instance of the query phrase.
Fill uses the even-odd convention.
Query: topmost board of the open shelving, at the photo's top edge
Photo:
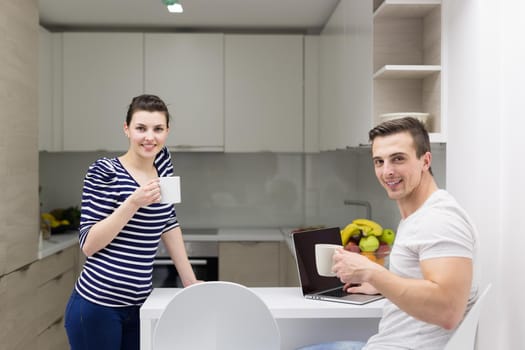
[[[374,19],[422,18],[440,5],[441,0],[385,0],[374,12]]]

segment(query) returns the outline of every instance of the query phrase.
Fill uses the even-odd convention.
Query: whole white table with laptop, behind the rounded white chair
[[[366,340],[377,332],[384,300],[350,305],[307,300],[292,288],[250,288],[268,305],[281,333],[281,349],[332,340]],[[140,348],[152,349],[152,335],[164,308],[180,291],[155,288],[140,309]]]

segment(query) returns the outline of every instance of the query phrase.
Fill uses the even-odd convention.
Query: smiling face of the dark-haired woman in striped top
[[[129,150],[142,158],[154,158],[166,143],[169,128],[163,112],[136,111],[124,124]]]

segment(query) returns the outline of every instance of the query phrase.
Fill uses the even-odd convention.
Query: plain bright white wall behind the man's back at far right
[[[482,284],[493,284],[478,349],[524,349],[525,4],[446,0],[443,5],[447,183],[477,223]]]

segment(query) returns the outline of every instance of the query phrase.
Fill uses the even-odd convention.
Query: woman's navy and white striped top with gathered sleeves
[[[166,148],[154,164],[159,177],[173,174]],[[89,167],[82,191],[81,247],[91,227],[113,213],[138,187],[118,158],[101,158]],[[99,305],[142,305],[152,290],[153,259],[160,236],[177,226],[173,204],[141,207],[111,243],[86,259],[75,289]]]

